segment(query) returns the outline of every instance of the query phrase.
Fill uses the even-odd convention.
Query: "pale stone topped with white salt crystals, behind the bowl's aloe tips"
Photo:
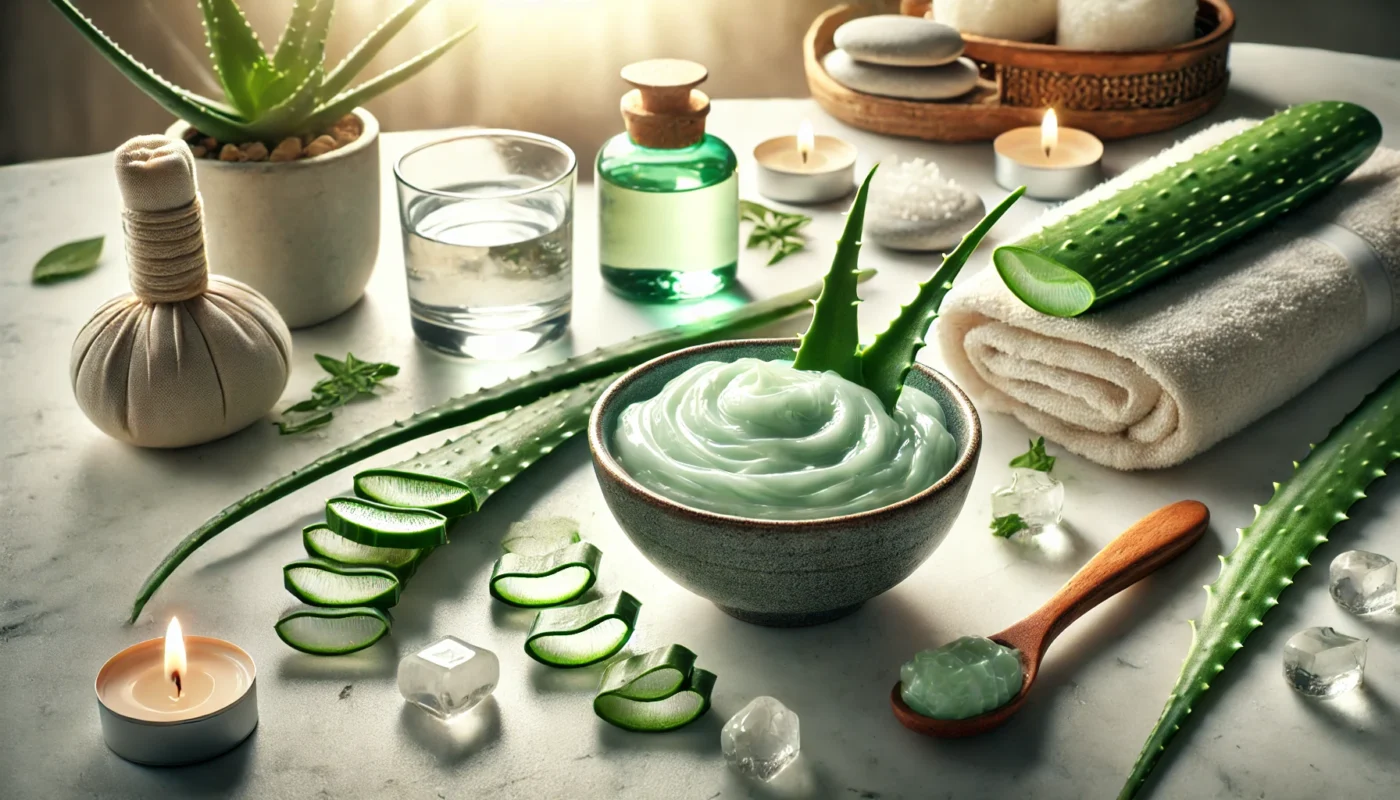
[[[890,249],[948,251],[984,213],[981,198],[944,178],[938,164],[890,156],[871,182],[865,238]]]

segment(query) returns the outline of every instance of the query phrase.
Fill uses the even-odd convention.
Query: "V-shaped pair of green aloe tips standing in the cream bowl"
[[[924,336],[938,317],[939,304],[942,304],[948,290],[953,287],[953,279],[962,272],[963,265],[967,263],[973,251],[997,224],[997,220],[1015,205],[1026,189],[1021,186],[1007,195],[990,214],[983,217],[977,227],[962,238],[953,252],[944,258],[932,277],[918,286],[918,294],[914,300],[909,305],[900,307],[899,315],[889,324],[889,328],[862,349],[855,314],[861,298],[855,293],[855,284],[860,275],[865,196],[869,193],[871,178],[875,177],[879,165],[871,168],[860,191],[855,192],[855,200],[851,202],[851,210],[846,216],[846,228],[836,242],[832,268],[822,280],[822,294],[812,311],[812,325],[802,335],[792,367],[836,373],[875,392],[885,408],[893,412],[899,394],[904,388],[904,378],[909,377],[909,370],[914,366],[918,350],[924,347]]]

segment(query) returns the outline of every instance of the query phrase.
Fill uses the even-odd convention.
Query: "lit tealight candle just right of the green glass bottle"
[[[855,146],[815,136],[804,122],[797,136],[778,136],[753,149],[759,193],[781,203],[825,203],[855,189]]]

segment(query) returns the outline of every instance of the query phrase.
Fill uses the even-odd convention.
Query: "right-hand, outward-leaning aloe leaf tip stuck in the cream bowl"
[[[924,347],[924,336],[928,335],[928,326],[938,317],[938,307],[942,305],[944,297],[953,287],[953,279],[962,272],[963,265],[967,263],[973,251],[997,224],[997,220],[1025,192],[1026,188],[1021,186],[1007,195],[1007,199],[983,217],[977,227],[967,231],[953,252],[944,258],[934,276],[918,284],[918,294],[914,296],[913,303],[900,307],[899,317],[889,324],[889,328],[861,350],[860,382],[875,392],[886,411],[895,411],[899,394],[904,388],[904,378],[909,377],[914,359]]]

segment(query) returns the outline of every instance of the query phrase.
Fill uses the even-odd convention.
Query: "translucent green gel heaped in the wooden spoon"
[[[899,680],[904,703],[925,717],[969,719],[1021,694],[1021,656],[991,639],[963,636],[914,656]]]

